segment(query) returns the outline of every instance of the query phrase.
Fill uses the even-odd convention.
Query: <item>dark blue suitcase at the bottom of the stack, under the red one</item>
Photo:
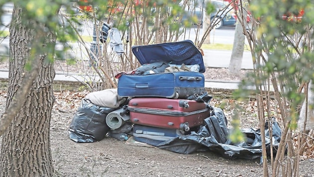
[[[199,127],[194,127],[192,130],[197,131]],[[146,125],[134,124],[133,126],[133,138],[135,141],[146,143],[153,146],[158,146],[164,141],[168,141],[172,138],[180,135],[187,135],[189,132],[178,129],[151,127]]]

